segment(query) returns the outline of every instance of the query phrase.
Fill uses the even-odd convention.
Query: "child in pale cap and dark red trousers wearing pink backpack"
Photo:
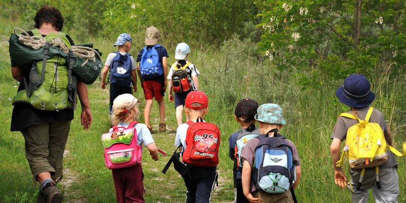
[[[118,203],[128,201],[144,203],[143,173],[141,167],[142,144],[151,158],[158,161],[158,148],[147,126],[138,123],[138,101],[132,94],[121,94],[114,99],[110,122],[113,128],[102,135],[106,166],[113,174]]]

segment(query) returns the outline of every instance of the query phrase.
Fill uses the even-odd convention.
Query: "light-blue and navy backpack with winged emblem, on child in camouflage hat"
[[[273,137],[268,137],[269,132]],[[294,196],[292,185],[296,180],[296,166],[293,164],[293,152],[278,129],[258,136],[259,144],[255,148],[253,178],[257,190],[277,194],[289,188]],[[294,198],[296,199],[296,198]]]

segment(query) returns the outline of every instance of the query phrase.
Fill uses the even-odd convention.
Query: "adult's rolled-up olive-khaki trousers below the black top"
[[[71,121],[60,121],[21,130],[25,139],[25,158],[34,178],[42,172],[50,172],[53,180],[62,176],[63,152],[70,127]]]

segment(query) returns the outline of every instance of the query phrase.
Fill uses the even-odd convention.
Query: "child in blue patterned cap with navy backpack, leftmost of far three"
[[[128,52],[131,49],[131,37],[126,34],[120,34],[117,37],[116,43],[113,46],[118,46],[118,51],[110,53],[107,56],[105,67],[102,70],[102,89],[106,89],[106,76],[110,70],[110,106],[111,113],[114,99],[120,95],[129,93],[132,94],[131,84],[134,92],[137,91],[137,64],[134,57]]]

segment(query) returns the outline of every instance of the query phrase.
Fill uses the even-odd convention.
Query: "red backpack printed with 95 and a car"
[[[186,124],[189,128],[186,131],[182,162],[191,166],[217,166],[220,130],[216,125],[207,122],[188,121]]]

